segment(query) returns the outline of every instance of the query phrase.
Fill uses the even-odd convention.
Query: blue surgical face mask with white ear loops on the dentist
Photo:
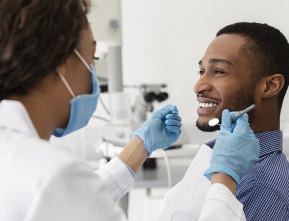
[[[84,58],[74,50],[74,53],[79,57],[79,59],[83,62],[83,64],[88,68],[91,72],[91,79],[92,79],[92,93],[91,94],[82,94],[75,96],[70,85],[66,81],[65,77],[57,70],[59,77],[62,79],[63,83],[66,85],[67,89],[72,95],[71,100],[71,111],[70,111],[70,118],[66,128],[56,128],[53,135],[56,137],[62,137],[67,134],[72,133],[84,126],[87,125],[88,121],[90,120],[92,114],[96,110],[99,94],[100,94],[100,87],[99,83],[96,78],[96,69],[94,65],[91,67],[87,64]]]

